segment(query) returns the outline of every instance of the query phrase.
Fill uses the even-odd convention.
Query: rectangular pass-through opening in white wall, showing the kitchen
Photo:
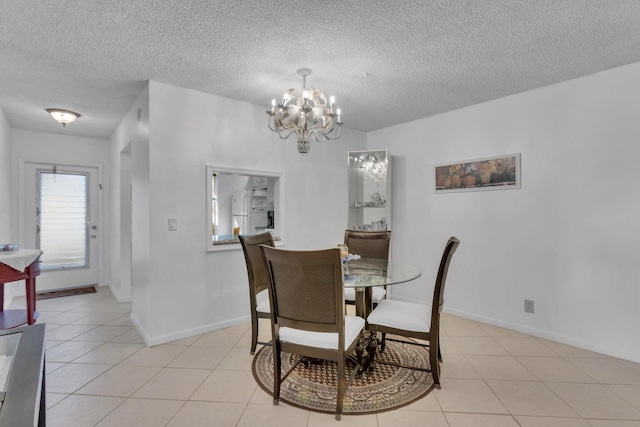
[[[207,166],[207,250],[237,249],[238,234],[279,236],[283,181],[279,172]]]

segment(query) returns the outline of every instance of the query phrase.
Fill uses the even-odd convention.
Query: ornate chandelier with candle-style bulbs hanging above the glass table
[[[302,91],[289,89],[282,96],[282,102],[271,101],[269,129],[278,132],[280,139],[287,139],[292,133],[298,137],[298,152],[305,154],[310,149],[310,139],[326,141],[340,136],[340,109],[332,96],[327,97],[316,88],[307,89],[308,68],[300,68]]]

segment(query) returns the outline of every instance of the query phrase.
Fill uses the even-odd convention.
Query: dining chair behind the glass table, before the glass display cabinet
[[[344,243],[352,254],[360,255],[362,258],[389,259],[389,243],[391,242],[391,231],[360,231],[345,230]],[[374,307],[385,297],[387,290],[385,287],[376,286],[371,289],[371,300]],[[344,299],[347,304],[355,304],[355,288],[347,288],[344,292]]]

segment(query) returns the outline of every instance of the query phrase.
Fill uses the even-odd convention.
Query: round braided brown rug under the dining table
[[[282,372],[287,372],[299,356],[282,353]],[[410,366],[429,367],[428,350],[409,344],[387,341],[378,360],[392,361]],[[355,364],[347,361],[347,380]],[[273,350],[262,347],[253,358],[253,376],[260,387],[273,395]],[[316,412],[335,413],[337,365],[319,360],[305,366],[300,363],[280,386],[280,400],[290,405]],[[344,396],[343,414],[363,415],[390,411],[426,396],[433,389],[431,373],[399,368],[381,363],[372,372],[356,377]]]

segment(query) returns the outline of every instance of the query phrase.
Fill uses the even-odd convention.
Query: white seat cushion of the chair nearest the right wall
[[[405,331],[429,332],[431,307],[385,299],[367,317],[369,325],[380,325]]]

